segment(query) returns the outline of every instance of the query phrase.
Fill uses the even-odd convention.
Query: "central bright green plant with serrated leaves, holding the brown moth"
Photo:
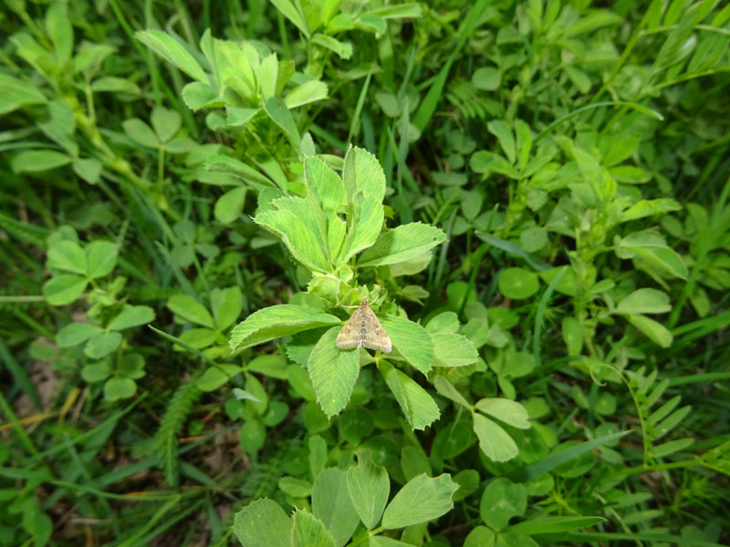
[[[315,297],[310,305],[316,302],[319,310],[357,305],[362,298],[383,302],[385,294],[379,294],[379,289],[370,294],[366,287],[355,284],[363,269],[406,262],[446,239],[443,231],[420,222],[384,228],[385,175],[367,150],[350,148],[341,176],[317,156],[304,158],[303,171],[306,197],[276,197],[255,215],[254,222],[274,233],[294,259],[308,268],[308,294]],[[337,315],[313,307],[281,304],[256,312],[234,327],[231,349],[341,323]],[[406,317],[384,315],[382,322],[394,349],[391,356],[376,357],[383,377],[412,428],[425,428],[438,418],[433,399],[411,377],[394,370],[389,360],[426,374],[432,366],[433,339]],[[318,403],[330,418],[346,408],[360,369],[357,350],[335,346],[338,330],[332,328],[321,335],[307,360]]]

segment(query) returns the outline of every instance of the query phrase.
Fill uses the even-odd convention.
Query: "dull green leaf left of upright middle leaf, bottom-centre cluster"
[[[346,471],[328,468],[318,474],[312,484],[312,512],[324,522],[337,547],[348,542],[360,517],[349,500]]]

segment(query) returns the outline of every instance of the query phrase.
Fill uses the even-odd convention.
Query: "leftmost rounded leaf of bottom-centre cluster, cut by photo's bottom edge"
[[[235,513],[233,528],[245,547],[291,547],[292,525],[276,501],[264,498]]]

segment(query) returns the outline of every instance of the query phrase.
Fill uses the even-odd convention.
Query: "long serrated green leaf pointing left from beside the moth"
[[[319,326],[341,323],[335,315],[323,314],[308,307],[294,304],[272,305],[249,315],[231,333],[231,349],[257,346],[281,336]]]

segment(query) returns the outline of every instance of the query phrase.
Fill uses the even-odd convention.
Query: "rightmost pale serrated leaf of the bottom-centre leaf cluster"
[[[383,528],[404,528],[440,517],[454,507],[454,492],[458,488],[446,473],[433,479],[425,473],[413,477],[385,508]]]

